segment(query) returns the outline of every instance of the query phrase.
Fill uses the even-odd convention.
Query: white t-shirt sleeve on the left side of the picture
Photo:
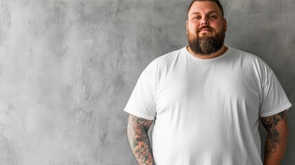
[[[156,114],[156,86],[155,72],[153,72],[153,70],[154,68],[151,64],[144,69],[124,108],[124,111],[127,113],[147,120],[154,120]]]

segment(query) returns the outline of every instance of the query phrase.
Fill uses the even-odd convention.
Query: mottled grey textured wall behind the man
[[[188,3],[1,0],[0,164],[135,164],[123,109],[144,67],[186,45]],[[295,1],[221,3],[226,44],[263,58],[295,104]]]

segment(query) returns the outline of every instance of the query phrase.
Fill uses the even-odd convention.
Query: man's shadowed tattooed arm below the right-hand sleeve
[[[260,118],[267,131],[264,165],[278,165],[283,159],[288,137],[287,112]]]

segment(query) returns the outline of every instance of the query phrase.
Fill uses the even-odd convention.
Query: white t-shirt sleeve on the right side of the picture
[[[292,106],[274,72],[270,72],[269,78],[262,87],[262,94],[260,117],[275,115]]]

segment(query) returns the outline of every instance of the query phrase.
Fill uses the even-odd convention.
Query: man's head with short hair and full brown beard
[[[186,33],[190,49],[199,55],[210,55],[223,46],[226,19],[213,1],[196,1],[188,12]]]

